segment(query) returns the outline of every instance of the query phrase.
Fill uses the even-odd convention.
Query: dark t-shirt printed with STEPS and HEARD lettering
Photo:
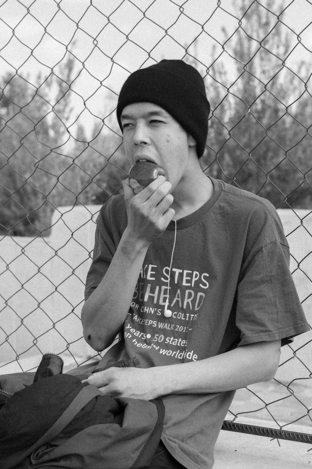
[[[289,246],[275,208],[261,197],[211,178],[213,196],[150,245],[119,342],[98,370],[191,362],[231,348],[308,331],[289,270]],[[127,225],[123,196],[97,219],[86,298],[102,280]],[[169,294],[168,294],[169,292]],[[168,309],[172,316],[164,316]],[[162,440],[189,469],[211,468],[234,391],[172,394]]]

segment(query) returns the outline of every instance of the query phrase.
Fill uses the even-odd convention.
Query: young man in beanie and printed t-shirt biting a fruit
[[[151,467],[211,468],[234,390],[272,379],[281,340],[309,330],[274,207],[201,170],[209,112],[202,77],[183,61],[126,80],[126,155],[167,180],[138,194],[125,180],[102,207],[87,276],[85,339],[102,351],[119,333],[88,381],[111,396],[162,396]]]

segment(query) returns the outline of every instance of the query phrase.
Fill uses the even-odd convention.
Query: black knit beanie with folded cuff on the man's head
[[[197,155],[203,155],[210,104],[205,84],[196,68],[181,60],[162,60],[133,72],[123,84],[117,104],[117,119],[125,106],[153,103],[167,111],[197,143]]]

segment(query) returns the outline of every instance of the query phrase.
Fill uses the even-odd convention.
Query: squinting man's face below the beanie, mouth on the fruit
[[[194,139],[167,111],[152,103],[124,107],[121,122],[123,146],[131,164],[145,159],[162,166],[176,187],[186,173],[189,144],[194,146]]]

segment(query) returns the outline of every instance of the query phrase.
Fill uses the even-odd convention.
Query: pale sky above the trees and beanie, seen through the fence
[[[113,110],[130,72],[165,57],[181,59],[187,47],[203,75],[220,54],[231,73],[233,59],[226,50],[239,25],[242,1],[246,8],[255,6],[254,0],[0,0],[0,76],[18,73],[35,84],[39,71],[43,77],[52,68],[58,72],[70,51],[77,76],[73,107],[88,126],[94,115],[103,119]],[[271,3],[283,29],[292,30],[294,50],[286,65],[311,61],[312,1],[285,0],[283,13],[280,1]],[[277,16],[270,18],[274,25]],[[254,26],[244,19],[241,24],[256,36]]]

